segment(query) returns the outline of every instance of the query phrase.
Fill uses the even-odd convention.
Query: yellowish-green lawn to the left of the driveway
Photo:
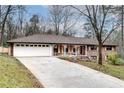
[[[17,59],[0,55],[0,87],[39,88],[43,86]]]

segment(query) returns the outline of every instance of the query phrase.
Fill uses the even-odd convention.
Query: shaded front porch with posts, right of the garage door
[[[56,44],[53,48],[54,56],[72,56],[72,55],[87,55],[87,46],[85,45],[70,45]]]

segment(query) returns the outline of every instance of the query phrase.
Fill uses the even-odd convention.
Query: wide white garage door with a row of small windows
[[[22,56],[52,56],[52,46],[49,44],[14,44],[13,54]]]

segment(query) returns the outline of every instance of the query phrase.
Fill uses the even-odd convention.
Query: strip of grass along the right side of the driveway
[[[74,61],[72,58],[69,58],[69,57],[59,57],[59,58],[68,60],[70,62]],[[119,66],[119,65],[111,65],[111,64],[104,63],[101,66],[96,62],[84,62],[81,60],[76,60],[76,63],[124,80],[124,65]]]

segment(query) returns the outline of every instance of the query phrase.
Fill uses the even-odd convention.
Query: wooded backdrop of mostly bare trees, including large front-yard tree
[[[96,38],[99,44],[99,64],[102,64],[101,47],[106,40],[119,45],[118,53],[124,58],[123,5],[52,5],[48,17],[32,14],[26,19],[27,7],[23,5],[0,6],[0,45],[6,41],[33,34],[56,34]],[[83,35],[82,33],[83,32]]]

